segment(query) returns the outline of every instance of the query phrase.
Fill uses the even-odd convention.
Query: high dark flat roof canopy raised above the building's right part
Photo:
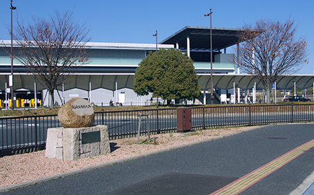
[[[237,35],[243,31],[241,28],[212,28],[212,49],[222,50],[239,43]],[[161,44],[178,43],[179,48],[187,48],[187,37],[190,37],[190,48],[210,48],[210,27],[187,25],[172,34]]]

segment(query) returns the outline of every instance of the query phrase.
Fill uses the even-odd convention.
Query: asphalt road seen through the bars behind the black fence
[[[293,119],[302,121],[305,118],[312,119],[313,114],[294,114]],[[292,119],[290,113],[281,114],[252,114],[248,116],[246,114],[221,114],[221,116],[193,116],[192,126],[202,127],[203,123],[205,125],[234,125],[234,124],[248,124],[251,122],[261,123],[261,122],[271,122],[277,123],[278,121],[289,121]],[[95,124],[101,124],[100,119],[95,119]],[[57,119],[46,119],[37,121],[37,144],[46,143],[46,130],[50,127],[55,127],[59,124]],[[104,124],[108,125],[109,134],[135,134],[138,131],[138,117],[125,118],[121,116],[120,119],[109,118],[104,120]],[[20,148],[30,145],[35,145],[35,121],[33,119],[25,120],[8,120],[3,119],[0,122],[0,151],[7,150],[10,148]],[[60,125],[59,125],[60,126]],[[160,116],[158,119],[158,127],[156,117],[151,117],[149,119],[149,129],[174,129],[176,128],[176,116],[169,115],[167,117]],[[147,118],[143,116],[141,119],[141,131],[147,131]]]

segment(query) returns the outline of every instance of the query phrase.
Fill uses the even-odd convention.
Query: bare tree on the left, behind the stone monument
[[[17,24],[14,57],[29,68],[37,81],[46,86],[50,94],[50,107],[54,103],[54,90],[80,65],[87,63],[85,45],[89,42],[84,25],[73,21],[73,12],[46,19],[33,19],[33,24]]]

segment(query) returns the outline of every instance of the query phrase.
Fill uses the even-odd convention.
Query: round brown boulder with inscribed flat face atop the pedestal
[[[95,121],[95,113],[89,101],[73,98],[62,105],[58,119],[65,128],[91,127]]]

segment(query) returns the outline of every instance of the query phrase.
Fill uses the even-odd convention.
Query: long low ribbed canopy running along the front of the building
[[[8,74],[1,74],[0,90],[5,90],[5,83],[8,82]],[[116,81],[118,90],[123,88],[131,89],[133,87],[134,74],[75,74],[71,75],[64,81],[64,90],[71,90],[79,88],[82,90],[96,90],[104,88],[107,90],[116,90]],[[14,74],[14,88],[34,90],[35,76],[32,74],[15,73]],[[89,81],[91,81],[91,89],[89,89]],[[214,88],[221,88],[230,90],[233,88],[251,89],[255,82],[257,88],[264,88],[259,79],[250,74],[213,74]],[[283,75],[276,81],[278,89],[291,89],[294,88],[294,83],[299,89],[306,89],[313,87],[314,75],[312,74],[296,74],[296,75]],[[198,83],[201,85],[202,90],[210,89],[210,74],[198,74]],[[44,86],[37,82],[37,90],[44,90]],[[62,90],[62,86],[58,87]]]

